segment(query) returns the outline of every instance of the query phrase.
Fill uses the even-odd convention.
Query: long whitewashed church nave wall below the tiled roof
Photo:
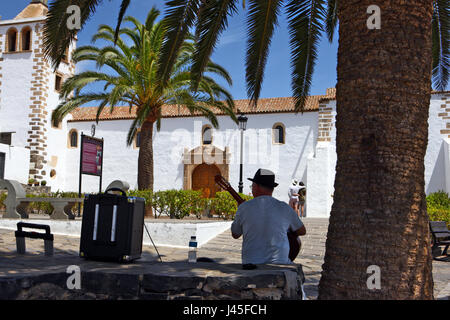
[[[287,192],[295,177],[306,183],[307,156],[314,152],[317,140],[317,112],[303,115],[277,113],[248,115],[244,147],[244,192],[250,193],[251,182],[259,168],[275,172],[280,184],[275,197],[288,201]],[[272,126],[281,122],[286,127],[286,144],[272,143]],[[79,134],[90,134],[94,122],[69,122],[67,130],[75,128]],[[183,152],[201,144],[201,131],[208,121],[201,117],[166,118],[161,131],[154,134],[155,190],[183,188]],[[105,139],[103,187],[113,180],[125,180],[137,188],[138,150],[126,146],[130,120],[102,121],[97,125],[96,137]],[[229,117],[219,117],[219,129],[213,131],[213,144],[230,148],[230,181],[237,189],[239,182],[240,132]],[[65,190],[78,190],[79,148],[66,147]],[[83,192],[97,192],[98,178],[83,176]]]

